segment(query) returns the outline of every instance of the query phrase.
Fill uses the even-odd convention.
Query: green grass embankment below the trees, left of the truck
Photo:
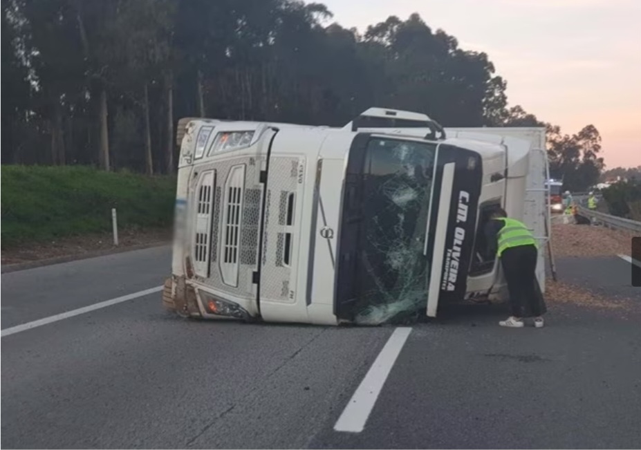
[[[3,249],[119,229],[170,227],[176,178],[91,167],[1,166]]]

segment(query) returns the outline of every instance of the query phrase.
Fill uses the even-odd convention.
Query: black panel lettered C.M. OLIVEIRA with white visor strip
[[[431,254],[428,317],[436,317],[439,304],[465,297],[483,181],[481,157],[474,151],[444,142],[436,158],[425,250]]]

